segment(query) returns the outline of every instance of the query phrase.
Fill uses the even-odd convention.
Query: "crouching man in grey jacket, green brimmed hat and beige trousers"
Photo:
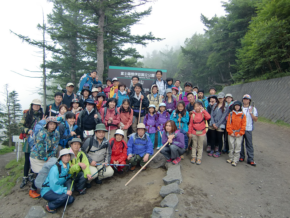
[[[105,124],[97,124],[94,132],[95,135],[85,140],[84,145],[81,147],[81,151],[86,154],[90,163],[89,169],[91,175],[93,175],[92,179],[95,179],[97,184],[102,184],[103,178],[111,177],[114,174],[112,167],[107,165],[111,161],[112,149],[108,140],[105,138],[105,133],[108,132]],[[103,168],[103,166],[105,166],[105,168]],[[87,181],[87,188],[91,187],[91,185],[88,184],[91,181],[92,180]]]

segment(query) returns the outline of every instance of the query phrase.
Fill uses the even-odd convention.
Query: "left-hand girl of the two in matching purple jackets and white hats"
[[[154,141],[155,141],[155,133],[157,132],[156,128],[156,113],[155,113],[156,106],[154,104],[149,105],[148,114],[145,115],[143,124],[148,129],[148,135],[150,136],[151,142],[153,144],[154,149]]]

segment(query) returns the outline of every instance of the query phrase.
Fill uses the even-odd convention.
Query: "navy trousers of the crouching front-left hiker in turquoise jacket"
[[[53,192],[52,190],[46,192],[42,198],[46,201],[48,201],[48,207],[50,210],[54,210],[55,208],[58,208],[60,206],[65,206],[66,201],[68,200],[68,204],[72,204],[75,201],[75,198],[67,194],[57,194]]]

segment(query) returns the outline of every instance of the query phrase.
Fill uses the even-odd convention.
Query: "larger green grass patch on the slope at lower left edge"
[[[16,185],[17,178],[23,176],[23,165],[25,158],[21,158],[18,162],[16,159],[11,160],[5,168],[9,170],[9,176],[0,179],[0,195],[1,197],[8,195],[11,189]]]

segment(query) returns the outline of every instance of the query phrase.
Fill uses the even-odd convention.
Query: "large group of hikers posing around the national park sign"
[[[210,87],[206,98],[191,82],[184,83],[183,91],[180,80],[165,81],[160,70],[156,77],[146,96],[138,76],[127,89],[118,78],[102,85],[93,70],[81,78],[77,94],[73,83],[66,89],[58,85],[62,92],[55,93],[45,113],[34,99],[19,123],[25,152],[20,188],[30,181],[29,196],[46,199],[46,210],[56,213],[59,206],[73,203],[74,190],[85,194],[92,180],[102,184],[126,166],[130,171],[138,162],[144,167],[155,147],[175,165],[191,150],[190,162],[200,165],[205,136],[208,156],[228,153],[226,162],[236,166],[245,160],[245,144],[248,164],[256,165],[252,131],[258,113],[250,106],[250,95],[234,101],[231,94],[216,95]]]

